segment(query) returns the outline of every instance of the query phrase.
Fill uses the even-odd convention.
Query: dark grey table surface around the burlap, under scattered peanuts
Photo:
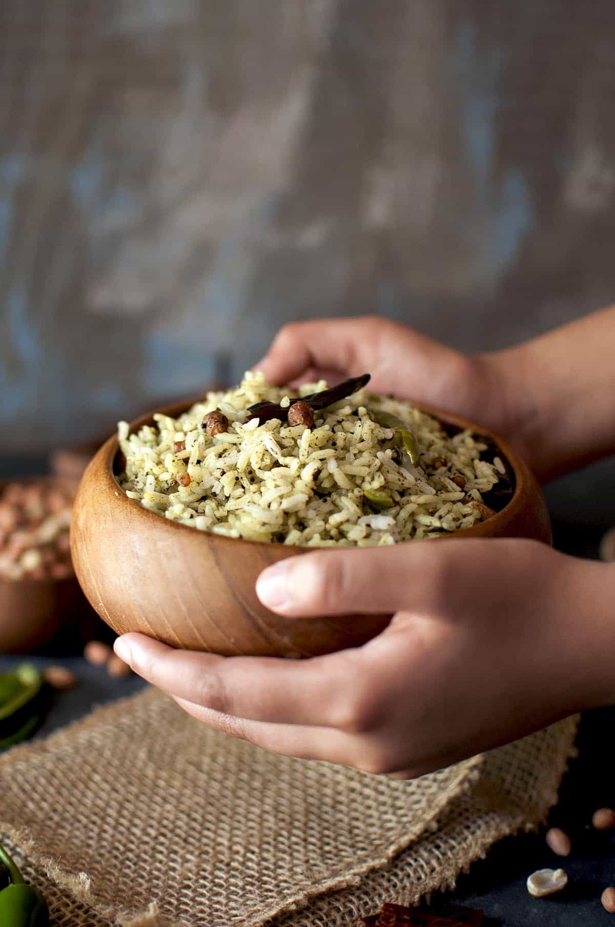
[[[18,460],[0,456],[0,478],[44,472],[40,459]],[[559,480],[547,488],[555,543],[579,556],[596,557],[604,530],[615,525],[615,492],[612,463],[595,465],[583,474]],[[604,502],[607,499],[608,502]],[[104,668],[89,666],[72,641],[57,641],[48,654],[32,657],[41,665],[50,662],[69,667],[79,685],[57,693],[42,730],[44,737],[103,705],[137,692],[141,679],[111,679]],[[0,655],[0,671],[14,666],[17,658]],[[522,834],[496,844],[487,857],[461,876],[455,893],[446,895],[471,908],[483,908],[486,927],[576,927],[615,923],[600,904],[602,890],[615,884],[615,832],[595,832],[591,817],[600,806],[615,806],[615,781],[609,756],[615,724],[615,707],[584,715],[577,746],[579,756],[562,782],[559,804],[550,823],[570,833],[571,857],[563,862],[569,886],[549,899],[533,899],[525,888],[527,876],[536,869],[558,868],[562,860],[546,847],[544,835]],[[435,903],[434,899],[434,903]]]

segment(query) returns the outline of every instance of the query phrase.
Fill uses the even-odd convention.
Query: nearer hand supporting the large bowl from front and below
[[[261,601],[297,621],[395,613],[382,634],[307,660],[182,652],[138,634],[116,650],[220,730],[412,778],[609,702],[613,585],[609,566],[527,540],[310,552],[265,570]]]

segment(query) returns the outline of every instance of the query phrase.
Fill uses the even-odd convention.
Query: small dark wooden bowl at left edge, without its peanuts
[[[27,485],[43,479],[36,476],[19,482]],[[5,486],[6,482],[0,483],[0,495]],[[83,611],[89,612],[89,608],[74,576],[0,578],[0,654],[38,650]]]

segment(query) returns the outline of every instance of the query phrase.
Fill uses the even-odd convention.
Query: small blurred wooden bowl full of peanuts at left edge
[[[0,482],[0,653],[37,650],[87,609],[70,559],[75,484]]]

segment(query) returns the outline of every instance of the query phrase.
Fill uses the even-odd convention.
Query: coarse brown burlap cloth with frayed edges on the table
[[[400,782],[209,730],[146,690],[0,758],[0,832],[67,927],[341,927],[544,819],[576,719]]]

